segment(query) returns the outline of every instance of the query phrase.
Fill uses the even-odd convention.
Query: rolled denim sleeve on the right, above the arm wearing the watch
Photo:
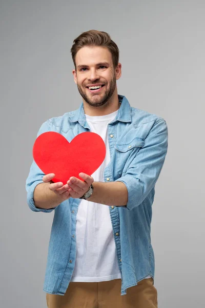
[[[166,121],[159,119],[150,130],[145,145],[128,166],[125,174],[117,179],[126,185],[128,203],[122,206],[128,210],[137,207],[148,196],[159,177],[168,149],[168,129]]]

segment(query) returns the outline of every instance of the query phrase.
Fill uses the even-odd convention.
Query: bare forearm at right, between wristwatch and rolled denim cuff
[[[128,202],[128,190],[122,182],[93,182],[93,194],[88,201],[114,206],[125,206]]]

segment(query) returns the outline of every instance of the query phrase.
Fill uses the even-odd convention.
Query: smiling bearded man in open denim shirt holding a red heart
[[[167,153],[167,125],[118,95],[119,50],[106,32],[80,34],[71,48],[80,107],[47,120],[39,134],[69,141],[98,133],[106,158],[91,176],[53,183],[33,161],[27,201],[55,209],[44,291],[49,308],[157,307],[150,238],[155,183]],[[68,162],[72,163],[72,162]],[[92,163],[92,162],[91,162]]]

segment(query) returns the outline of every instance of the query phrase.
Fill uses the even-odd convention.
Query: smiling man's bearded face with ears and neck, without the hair
[[[116,80],[121,76],[121,64],[118,63],[117,68],[114,68],[112,54],[101,46],[82,47],[77,52],[75,61],[79,64],[73,70],[74,80],[86,108],[91,106],[87,110],[90,110],[90,115],[105,115],[116,111],[119,108]],[[80,64],[84,62],[86,64]],[[92,107],[102,108],[96,110]],[[102,114],[102,110],[105,113]],[[85,113],[87,114],[86,110]]]

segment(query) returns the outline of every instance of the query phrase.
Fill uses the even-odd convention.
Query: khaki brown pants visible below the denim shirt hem
[[[120,295],[121,279],[101,282],[70,282],[64,296],[46,294],[49,308],[156,308],[157,291],[148,278]]]

